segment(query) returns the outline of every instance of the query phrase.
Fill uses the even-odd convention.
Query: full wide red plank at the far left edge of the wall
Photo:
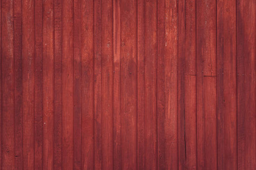
[[[2,170],[15,168],[14,13],[13,0],[1,2]]]

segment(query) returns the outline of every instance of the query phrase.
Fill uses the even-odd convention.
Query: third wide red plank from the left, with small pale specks
[[[54,0],[43,2],[43,169],[54,168]]]

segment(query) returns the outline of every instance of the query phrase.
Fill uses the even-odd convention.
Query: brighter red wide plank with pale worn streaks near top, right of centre
[[[170,10],[171,9],[171,10]],[[165,1],[165,168],[178,168],[178,2]]]

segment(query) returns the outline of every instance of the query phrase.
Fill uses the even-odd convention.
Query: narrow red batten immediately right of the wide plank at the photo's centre
[[[145,169],[145,55],[144,55],[144,35],[145,35],[145,1],[137,2],[137,155],[138,169]]]

